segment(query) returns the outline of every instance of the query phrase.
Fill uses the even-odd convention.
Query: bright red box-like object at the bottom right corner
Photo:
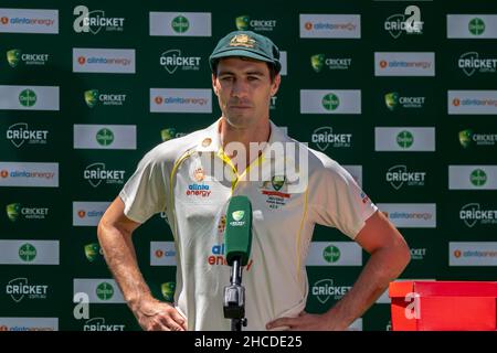
[[[496,331],[497,281],[390,282],[393,331]]]

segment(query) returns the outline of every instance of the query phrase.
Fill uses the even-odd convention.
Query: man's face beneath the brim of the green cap
[[[271,97],[279,87],[281,77],[271,82],[265,62],[221,58],[218,76],[212,75],[212,86],[222,115],[235,128],[248,128],[269,118]]]

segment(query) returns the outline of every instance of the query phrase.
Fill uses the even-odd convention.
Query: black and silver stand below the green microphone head
[[[231,331],[242,331],[246,327],[245,288],[242,286],[242,266],[240,257],[233,259],[230,286],[224,287],[224,318],[231,319]]]

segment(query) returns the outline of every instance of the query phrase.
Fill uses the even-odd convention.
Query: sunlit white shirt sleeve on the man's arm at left
[[[169,174],[160,156],[157,148],[148,152],[119,193],[124,213],[131,221],[145,223],[154,214],[166,211]]]

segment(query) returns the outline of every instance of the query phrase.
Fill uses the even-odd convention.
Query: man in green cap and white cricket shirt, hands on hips
[[[98,225],[124,298],[145,330],[229,330],[222,298],[230,268],[211,249],[222,249],[230,197],[246,195],[253,207],[243,278],[246,329],[346,330],[409,263],[402,235],[345,169],[269,120],[281,83],[279,52],[269,39],[232,32],[220,40],[210,65],[221,118],[147,153]],[[285,145],[298,153],[276,149]],[[297,161],[297,154],[305,158]],[[282,160],[283,169],[273,168]],[[175,304],[152,298],[131,242],[133,232],[158,212],[166,212],[177,248]],[[324,314],[304,312],[315,224],[337,227],[371,254],[351,290]]]

